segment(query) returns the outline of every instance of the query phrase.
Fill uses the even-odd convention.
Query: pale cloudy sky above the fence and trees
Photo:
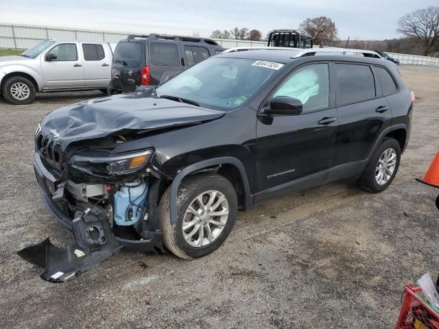
[[[247,27],[263,36],[271,29],[297,28],[307,18],[328,16],[342,40],[398,38],[399,17],[438,0],[0,0],[0,23],[143,34],[194,33]]]

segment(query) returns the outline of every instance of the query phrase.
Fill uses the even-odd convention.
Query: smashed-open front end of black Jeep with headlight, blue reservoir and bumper
[[[126,139],[111,138],[113,143]],[[76,147],[66,164],[66,153],[54,156],[50,143],[37,134],[38,186],[49,210],[73,231],[76,243],[59,248],[46,239],[21,250],[19,255],[29,263],[45,267],[41,278],[65,282],[121,249],[164,252],[156,220],[158,188],[164,180],[149,162],[152,149],[112,156],[103,151],[102,145],[108,147],[104,140],[98,147]]]

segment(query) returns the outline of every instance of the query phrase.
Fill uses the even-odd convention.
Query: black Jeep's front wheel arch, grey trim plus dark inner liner
[[[209,160],[203,160],[190,164],[184,169],[180,170],[171,183],[171,193],[169,199],[169,212],[171,217],[171,224],[174,225],[178,220],[177,214],[177,193],[180,182],[191,173],[206,169],[209,167],[219,166],[218,173],[226,177],[237,189],[239,198],[239,206],[241,208],[247,208],[252,206],[253,197],[250,194],[250,184],[244,165],[237,158],[225,156],[222,158],[213,158]]]

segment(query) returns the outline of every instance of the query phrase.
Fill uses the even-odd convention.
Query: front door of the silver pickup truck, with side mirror
[[[48,55],[54,56],[48,60]],[[75,43],[60,43],[41,57],[41,69],[46,88],[84,87],[82,58]]]

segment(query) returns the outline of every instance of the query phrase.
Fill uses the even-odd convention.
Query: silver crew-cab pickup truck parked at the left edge
[[[108,42],[43,40],[21,56],[1,56],[1,95],[19,105],[32,103],[37,92],[99,89],[106,93],[113,46]]]

